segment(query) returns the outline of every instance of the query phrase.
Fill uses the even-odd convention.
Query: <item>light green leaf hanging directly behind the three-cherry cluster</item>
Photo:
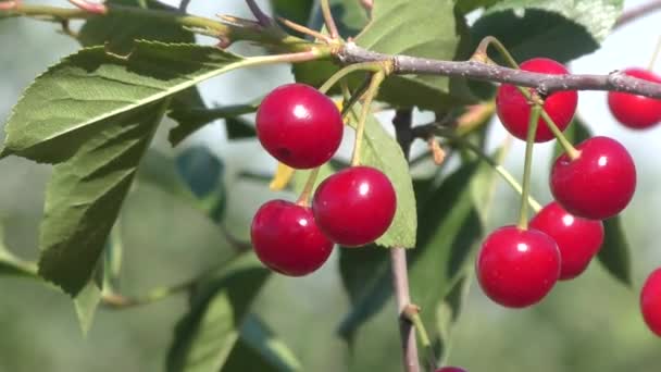
[[[356,104],[354,108],[356,112],[360,112],[359,104]],[[356,127],[354,121],[349,121],[349,123]],[[373,115],[369,115],[365,122],[360,159],[361,164],[374,166],[384,172],[397,194],[397,211],[392,224],[376,240],[376,244],[383,247],[415,247],[417,215],[415,214],[415,195],[409,174],[409,164],[399,144]]]

